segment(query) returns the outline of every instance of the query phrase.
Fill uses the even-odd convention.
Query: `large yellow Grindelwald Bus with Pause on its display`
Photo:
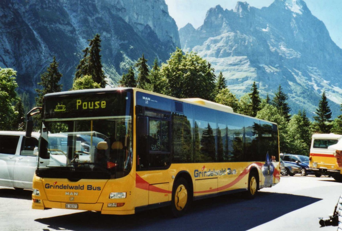
[[[170,206],[177,217],[193,200],[252,199],[280,180],[277,125],[221,104],[112,88],[47,94],[37,109],[34,209],[124,215]]]

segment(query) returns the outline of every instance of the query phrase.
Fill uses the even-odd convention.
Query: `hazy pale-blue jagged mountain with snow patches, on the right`
[[[303,0],[275,0],[262,9],[247,2],[237,2],[234,10],[218,5],[202,26],[179,34],[183,50],[222,71],[238,97],[250,92],[253,81],[271,99],[281,85],[292,114],[304,109],[313,116],[325,90],[333,116],[340,114],[342,49]]]

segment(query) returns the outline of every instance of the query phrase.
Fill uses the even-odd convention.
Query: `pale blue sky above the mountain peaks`
[[[251,6],[262,8],[274,0],[240,0]],[[203,24],[207,11],[221,5],[223,9],[234,9],[237,0],[165,0],[169,14],[179,28],[191,23],[195,28]],[[342,48],[342,0],[304,0],[311,13],[323,21],[331,39]]]

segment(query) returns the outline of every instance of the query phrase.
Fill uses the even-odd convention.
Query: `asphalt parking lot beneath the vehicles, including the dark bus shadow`
[[[342,183],[329,177],[282,176],[261,189],[254,200],[232,194],[195,201],[181,218],[168,208],[135,215],[101,215],[90,211],[32,210],[31,191],[0,187],[0,227],[16,230],[336,230],[320,227],[318,217],[332,213]]]

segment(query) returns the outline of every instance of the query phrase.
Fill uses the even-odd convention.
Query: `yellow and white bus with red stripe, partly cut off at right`
[[[334,152],[328,149],[330,145],[336,144],[340,139],[342,139],[342,135],[334,133],[312,135],[309,169],[317,177],[329,175],[337,181],[342,181],[341,170],[333,155]]]

